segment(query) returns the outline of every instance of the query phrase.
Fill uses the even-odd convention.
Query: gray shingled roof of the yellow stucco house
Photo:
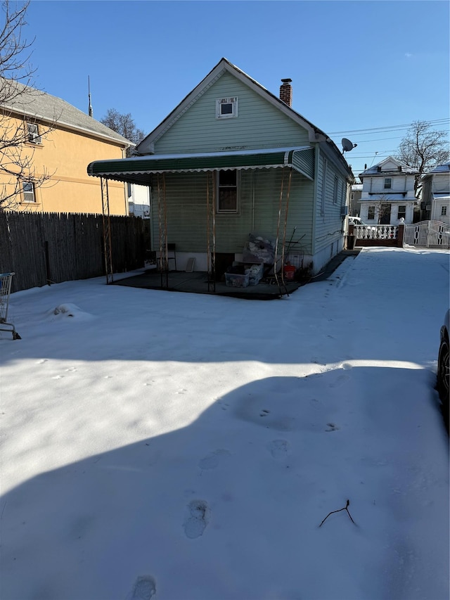
[[[1,106],[14,113],[20,113],[37,120],[58,122],[59,125],[67,125],[82,132],[91,132],[96,136],[120,142],[124,146],[134,146],[134,143],[117,134],[113,129],[106,127],[93,117],[89,117],[82,110],[75,108],[75,106],[61,98],[27,87],[19,82],[12,82],[10,79],[0,78],[0,89],[6,85],[15,87],[17,93],[11,101]]]

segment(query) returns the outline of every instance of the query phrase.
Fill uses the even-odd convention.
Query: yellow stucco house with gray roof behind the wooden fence
[[[0,87],[4,84],[0,80]],[[86,166],[93,160],[124,158],[134,144],[61,98],[17,82],[14,85],[19,93],[10,94],[8,103],[0,105],[0,135],[3,140],[15,136],[20,143],[17,148],[13,144],[3,148],[0,188],[3,197],[14,190],[18,193],[1,208],[101,214],[101,181],[89,177]],[[20,157],[16,154],[15,159],[18,152]],[[29,181],[18,178],[18,162],[23,172],[30,172]],[[34,184],[33,173],[46,180]],[[129,215],[125,184],[108,181],[108,197],[110,215]]]

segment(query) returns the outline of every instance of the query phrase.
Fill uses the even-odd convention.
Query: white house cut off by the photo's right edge
[[[450,162],[425,173],[422,183],[422,219],[450,225]]]

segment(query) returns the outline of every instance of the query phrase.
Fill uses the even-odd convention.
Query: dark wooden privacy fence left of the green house
[[[143,267],[148,222],[110,217],[113,271]],[[11,291],[105,275],[102,215],[0,212],[0,273]]]

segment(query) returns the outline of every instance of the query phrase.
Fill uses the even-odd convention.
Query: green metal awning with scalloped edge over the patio
[[[195,154],[155,154],[119,160],[95,160],[87,167],[92,177],[148,184],[154,173],[190,173],[216,170],[292,167],[314,179],[314,148],[262,148],[259,150]]]

